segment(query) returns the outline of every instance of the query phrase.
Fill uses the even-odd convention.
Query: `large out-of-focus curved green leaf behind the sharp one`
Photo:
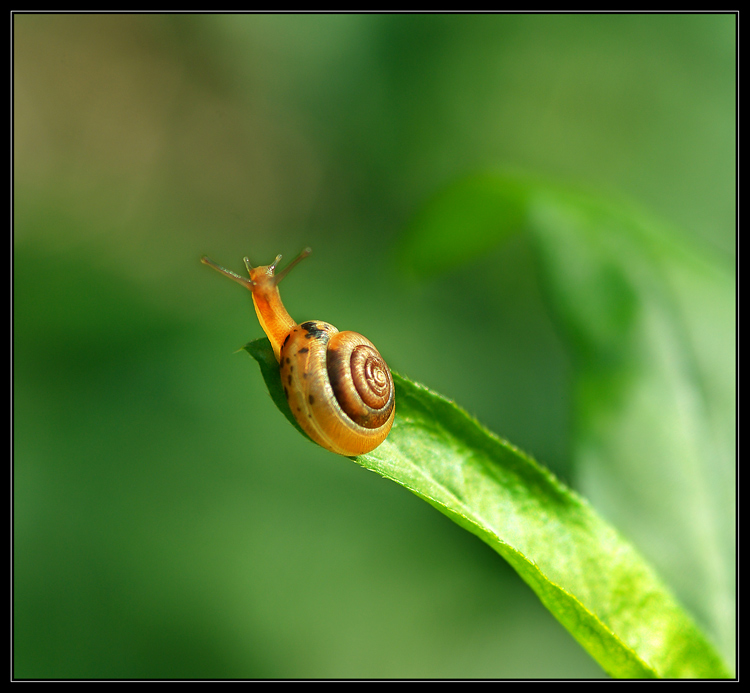
[[[493,190],[512,210],[501,224],[476,210]],[[657,566],[731,661],[737,358],[731,265],[632,205],[537,180],[476,175],[426,207],[403,241],[404,261],[422,274],[445,266],[464,237],[491,248],[511,228],[527,235],[574,364],[576,487]],[[445,208],[461,220],[450,238],[430,222]]]

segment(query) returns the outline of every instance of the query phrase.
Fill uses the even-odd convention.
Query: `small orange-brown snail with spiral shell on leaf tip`
[[[207,257],[201,262],[242,284],[253,294],[255,312],[266,333],[295,419],[316,443],[348,457],[380,445],[396,413],[393,378],[383,357],[366,337],[339,332],[327,322],[298,325],[279,295],[281,280],[312,251],[303,250],[276,274],[281,261],[252,267],[245,279]]]

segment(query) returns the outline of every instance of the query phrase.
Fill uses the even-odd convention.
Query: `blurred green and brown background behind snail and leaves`
[[[442,186],[511,169],[731,264],[735,17],[13,28],[15,676],[602,676],[478,539],[289,427],[236,353],[249,293],[199,258],[311,246],[293,317],[366,334],[575,486],[528,243],[419,280],[399,239]]]

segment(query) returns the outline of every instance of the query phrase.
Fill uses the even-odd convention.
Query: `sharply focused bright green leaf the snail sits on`
[[[268,341],[245,348],[291,417]],[[358,464],[503,556],[612,676],[729,675],[651,568],[585,501],[454,403],[396,374],[394,382],[393,430]]]

